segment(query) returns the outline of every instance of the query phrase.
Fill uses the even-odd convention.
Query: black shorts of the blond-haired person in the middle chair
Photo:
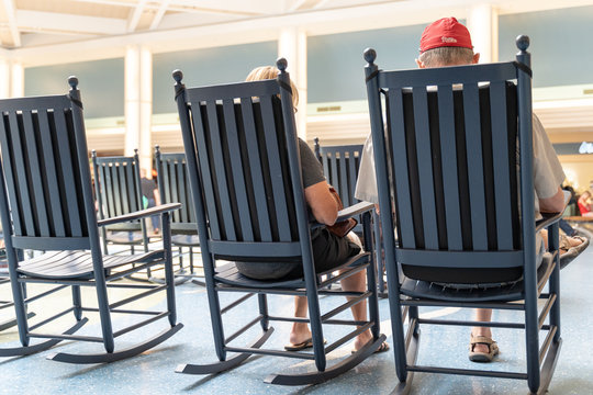
[[[360,252],[360,247],[347,237],[339,237],[327,228],[315,229],[311,235],[315,273],[329,271]],[[303,276],[303,264],[296,262],[235,262],[237,270],[255,280],[292,280]]]

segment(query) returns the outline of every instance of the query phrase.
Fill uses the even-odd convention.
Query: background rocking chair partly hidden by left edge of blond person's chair
[[[198,237],[198,223],[193,213],[191,189],[188,182],[188,170],[184,153],[163,154],[158,146],[155,147],[155,160],[157,168],[158,191],[161,203],[181,203],[181,208],[171,214],[171,244],[179,248],[180,270],[176,275],[188,278],[194,274],[193,252],[200,247]],[[183,248],[189,252],[189,273],[183,269]],[[204,285],[199,280],[192,280]]]

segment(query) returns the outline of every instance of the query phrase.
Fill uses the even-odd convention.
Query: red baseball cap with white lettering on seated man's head
[[[471,36],[466,26],[455,18],[443,18],[430,23],[421,37],[421,54],[428,49],[444,46],[457,46],[473,49]]]

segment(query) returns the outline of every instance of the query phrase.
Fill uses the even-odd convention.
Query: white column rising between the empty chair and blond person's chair
[[[124,155],[138,148],[141,167],[152,166],[153,57],[148,48],[133,45],[125,53],[125,147]],[[149,171],[148,171],[149,173]]]

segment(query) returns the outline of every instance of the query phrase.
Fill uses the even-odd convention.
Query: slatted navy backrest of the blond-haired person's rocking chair
[[[290,93],[278,80],[186,89],[174,77],[202,248],[208,236],[219,257],[300,257],[309,224]]]

